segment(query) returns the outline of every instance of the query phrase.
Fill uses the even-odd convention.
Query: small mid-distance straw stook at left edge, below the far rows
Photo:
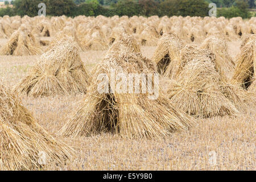
[[[42,53],[39,41],[22,26],[11,35],[5,46],[1,47],[0,55],[38,55]]]

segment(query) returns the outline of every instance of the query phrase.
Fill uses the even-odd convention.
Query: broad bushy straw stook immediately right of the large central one
[[[171,102],[196,117],[237,115],[249,102],[246,92],[228,84],[209,49],[186,46],[181,51],[177,77],[167,91]]]

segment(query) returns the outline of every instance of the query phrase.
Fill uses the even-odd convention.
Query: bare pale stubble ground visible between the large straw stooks
[[[1,46],[7,42],[1,39]],[[228,44],[231,57],[239,53],[241,41]],[[142,54],[151,59],[156,47],[142,46]],[[99,63],[106,51],[80,52],[88,72]],[[40,56],[0,56],[0,77],[3,84],[14,86]],[[102,133],[92,137],[56,136],[78,108],[84,94],[71,96],[27,97],[22,103],[49,134],[75,149],[65,167],[54,164],[43,170],[255,170],[255,107],[238,117],[196,119],[189,131],[173,133],[164,140],[125,139]],[[211,151],[216,164],[209,163]]]

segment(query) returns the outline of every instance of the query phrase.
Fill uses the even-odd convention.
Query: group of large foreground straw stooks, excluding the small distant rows
[[[255,65],[256,35],[243,40],[241,53],[233,61],[225,40],[218,36],[209,36],[197,46],[166,32],[150,60],[142,56],[134,36],[123,34],[90,74],[75,39],[57,36],[13,89],[0,83],[0,169],[40,169],[42,151],[47,165],[62,168],[74,154],[36,123],[18,93],[30,97],[85,94],[80,109],[73,110],[73,117],[58,135],[110,132],[124,138],[162,139],[188,130],[195,118],[236,117],[246,112],[247,105],[255,105]],[[105,73],[110,77],[113,70],[116,74],[161,73],[159,97],[149,100],[150,93],[99,93],[98,76]]]

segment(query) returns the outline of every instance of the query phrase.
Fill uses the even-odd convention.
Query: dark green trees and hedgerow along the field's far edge
[[[250,0],[15,0],[13,8],[0,9],[0,16],[38,15],[38,4],[46,4],[48,16],[208,16],[209,3],[218,7],[217,16],[250,18]]]

